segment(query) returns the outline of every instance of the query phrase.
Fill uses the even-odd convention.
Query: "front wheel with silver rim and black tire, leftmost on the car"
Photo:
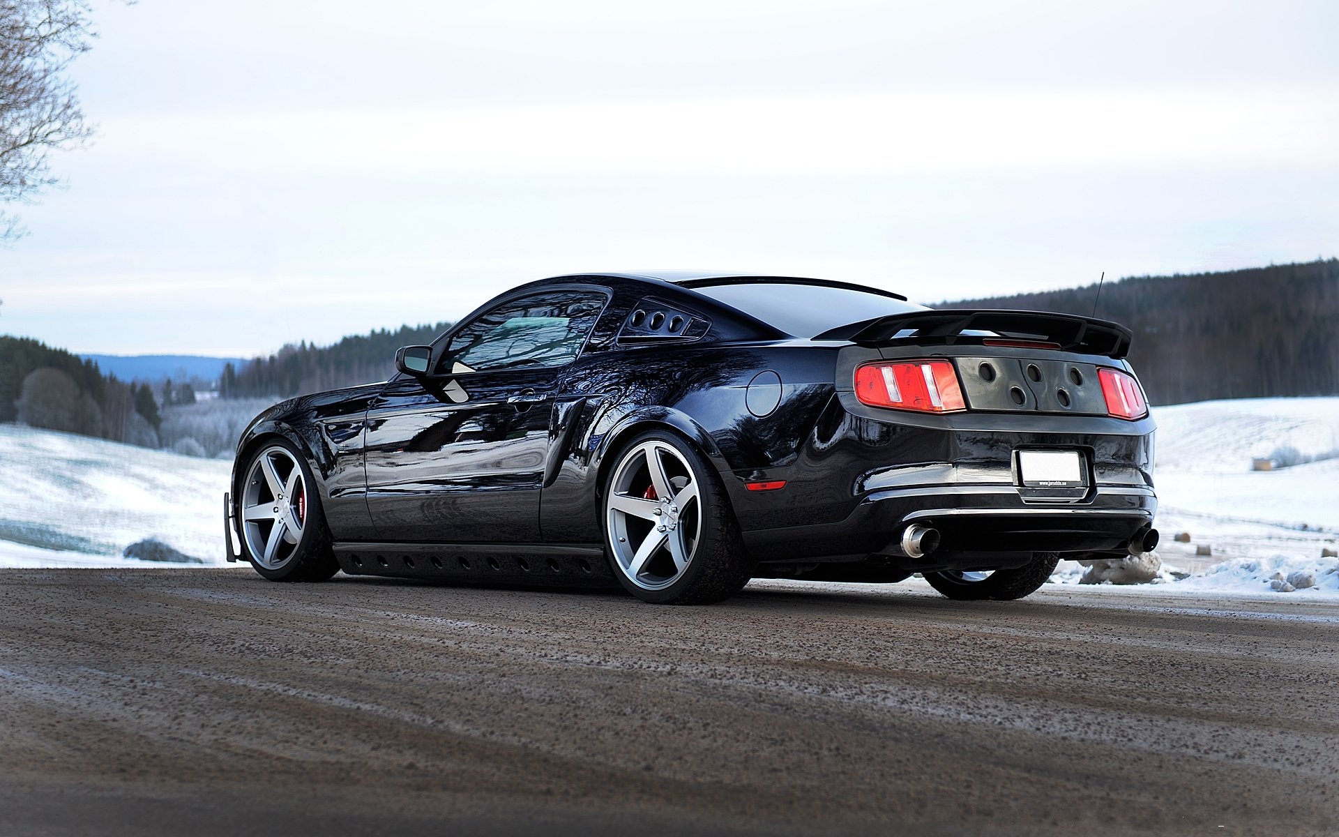
[[[246,461],[241,490],[242,549],[272,581],[324,581],[339,572],[321,497],[305,458],[273,439]]]

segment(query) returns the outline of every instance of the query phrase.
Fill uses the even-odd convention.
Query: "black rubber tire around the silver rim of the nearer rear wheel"
[[[615,537],[617,536],[611,528],[609,509],[615,481],[624,471],[624,463],[629,457],[636,455],[639,449],[651,442],[672,449],[682,459],[680,465],[686,463],[691,467],[690,478],[698,486],[696,506],[700,516],[696,521],[698,540],[687,565],[678,570],[680,575],[675,580],[667,580],[667,585],[659,589],[648,589],[647,585],[633,581],[620,564],[615,554],[617,549]],[[615,579],[623,584],[624,589],[651,604],[714,604],[738,593],[749,584],[754,562],[749,560],[739,537],[739,524],[720,477],[706,457],[672,431],[649,430],[623,445],[613,462],[615,465],[609,469],[605,479],[604,494],[601,494],[600,517],[605,540],[605,558],[609,561]],[[656,498],[649,500],[656,502]],[[664,560],[667,554],[668,546],[665,546],[665,553],[661,553],[660,560]]]

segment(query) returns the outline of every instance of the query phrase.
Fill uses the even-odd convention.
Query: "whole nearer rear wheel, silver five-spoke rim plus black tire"
[[[751,565],[715,469],[668,431],[632,439],[604,491],[605,550],[643,601],[710,604],[749,583]]]

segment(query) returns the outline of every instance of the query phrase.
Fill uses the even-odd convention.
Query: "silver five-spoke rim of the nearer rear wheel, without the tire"
[[[631,447],[609,481],[605,517],[624,577],[645,591],[672,585],[702,541],[702,494],[692,466],[659,439]]]

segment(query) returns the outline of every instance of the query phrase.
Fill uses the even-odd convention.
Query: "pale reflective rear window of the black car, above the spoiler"
[[[778,281],[690,287],[703,296],[734,305],[795,337],[813,337],[829,328],[890,313],[925,311],[924,305],[904,303],[881,293],[830,285]]]

